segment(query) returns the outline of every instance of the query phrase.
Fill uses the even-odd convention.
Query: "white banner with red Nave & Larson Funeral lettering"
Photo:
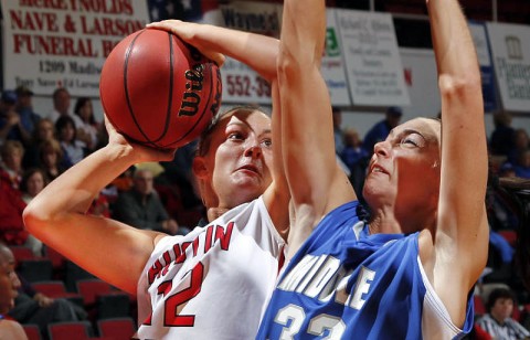
[[[106,56],[148,22],[146,1],[2,0],[4,87],[99,95]]]

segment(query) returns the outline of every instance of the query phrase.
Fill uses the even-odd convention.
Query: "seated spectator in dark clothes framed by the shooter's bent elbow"
[[[150,170],[137,170],[132,176],[132,189],[120,192],[114,204],[114,217],[138,229],[177,234],[179,225],[169,217],[153,187]]]

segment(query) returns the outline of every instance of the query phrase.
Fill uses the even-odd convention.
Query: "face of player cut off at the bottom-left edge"
[[[0,251],[0,314],[4,314],[14,306],[20,280],[14,272],[14,257],[11,251]]]

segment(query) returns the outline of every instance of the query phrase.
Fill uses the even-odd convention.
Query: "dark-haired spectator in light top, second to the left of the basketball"
[[[68,168],[85,158],[86,145],[77,139],[77,128],[72,117],[61,116],[55,121],[55,130],[61,148],[71,161]]]

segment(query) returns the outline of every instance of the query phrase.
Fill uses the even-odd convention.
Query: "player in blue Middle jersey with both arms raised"
[[[330,98],[319,72],[325,1],[285,1],[282,145],[296,215],[289,254],[299,248],[278,279],[258,339],[452,339],[471,329],[469,295],[488,247],[480,72],[458,1],[426,3],[442,123],[416,118],[375,145],[364,223],[335,162]]]

